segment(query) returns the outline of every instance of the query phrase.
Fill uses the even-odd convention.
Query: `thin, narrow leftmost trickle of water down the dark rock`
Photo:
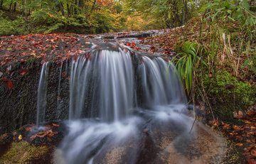
[[[37,127],[45,121],[46,104],[47,104],[47,82],[48,82],[48,62],[45,62],[43,63],[39,85],[38,85],[37,119],[36,119]]]

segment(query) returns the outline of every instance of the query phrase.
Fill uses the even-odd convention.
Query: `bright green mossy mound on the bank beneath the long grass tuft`
[[[198,77],[200,76],[201,74],[198,74]],[[215,70],[213,77],[204,73],[203,87],[215,118],[221,121],[235,121],[240,124],[241,121],[233,118],[233,112],[246,111],[247,107],[256,101],[256,87],[252,88],[247,82],[238,82],[227,70]]]

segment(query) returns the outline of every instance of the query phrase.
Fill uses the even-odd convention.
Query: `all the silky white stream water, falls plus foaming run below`
[[[168,64],[121,48],[94,49],[74,58],[68,134],[55,163],[170,163],[165,158],[170,148],[178,152],[174,156],[198,158],[197,151],[186,151],[196,133],[189,133],[193,119],[174,67],[166,74]],[[46,67],[41,81],[47,79]],[[38,92],[38,99],[45,99],[43,94]],[[38,124],[44,108],[38,105]]]

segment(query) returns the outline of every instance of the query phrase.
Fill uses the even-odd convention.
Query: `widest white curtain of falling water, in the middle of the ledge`
[[[133,106],[133,75],[129,52],[101,50],[90,58],[80,56],[72,62],[69,118],[126,118]]]

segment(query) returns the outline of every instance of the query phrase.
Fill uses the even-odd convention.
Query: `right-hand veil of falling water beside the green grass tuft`
[[[142,75],[142,106],[151,108],[156,105],[186,104],[186,96],[183,94],[181,82],[174,75],[174,67],[168,67],[168,63],[162,58],[142,57],[139,65],[139,75]],[[165,74],[167,70],[167,74]]]

